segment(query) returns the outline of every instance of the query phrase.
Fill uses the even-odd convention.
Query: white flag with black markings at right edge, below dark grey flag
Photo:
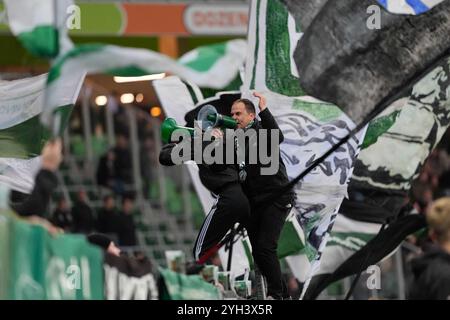
[[[370,122],[351,185],[406,195],[450,125],[449,90],[446,58]]]

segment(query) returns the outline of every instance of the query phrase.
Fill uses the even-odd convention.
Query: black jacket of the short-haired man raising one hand
[[[268,130],[268,139],[267,139],[267,150],[270,151],[270,130],[279,130],[279,144],[281,144],[284,141],[283,133],[281,132],[280,128],[278,127],[277,122],[275,121],[275,118],[270,113],[269,109],[264,109],[264,111],[261,111],[259,113],[259,117],[261,118],[261,121],[258,121],[255,119],[253,125],[250,127],[255,130],[255,134],[257,135],[256,140],[254,138],[250,137],[250,142],[246,143],[246,151],[245,151],[245,171],[247,172],[247,177],[243,183],[243,189],[244,192],[247,194],[249,200],[252,203],[260,203],[265,198],[267,198],[268,195],[273,194],[274,192],[277,192],[280,190],[280,187],[286,185],[289,182],[287,173],[286,173],[286,167],[284,166],[283,160],[281,158],[281,153],[279,156],[279,169],[277,173],[274,175],[261,175],[261,168],[264,167],[270,167],[270,164],[261,164],[259,159],[259,149],[258,149],[258,161],[256,164],[250,164],[249,160],[249,145],[252,143],[251,141],[256,141],[258,143],[259,148],[259,130],[260,129],[267,129]],[[294,192],[288,191],[285,192],[284,195],[281,197],[283,202],[286,201],[292,201],[294,197]]]

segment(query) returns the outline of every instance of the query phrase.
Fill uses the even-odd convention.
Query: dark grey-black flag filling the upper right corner
[[[297,1],[284,2],[301,21]],[[376,3],[327,1],[294,53],[303,90],[336,104],[358,124],[404,96],[449,55],[450,1],[414,16],[381,10],[380,24],[372,28],[367,8]]]

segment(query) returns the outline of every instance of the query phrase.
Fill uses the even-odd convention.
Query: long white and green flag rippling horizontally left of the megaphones
[[[217,49],[217,46],[215,47]],[[107,73],[117,76],[143,76],[156,72],[169,72],[200,87],[220,89],[229,84],[242,66],[246,45],[243,40],[231,40],[221,50],[197,49],[185,56],[181,64],[166,55],[146,49],[104,44],[85,44],[74,47],[58,57],[50,69],[47,81],[46,110],[43,123],[50,125],[55,93],[70,86],[62,81],[69,76]],[[197,52],[197,53],[195,53]],[[202,64],[202,52],[206,52]],[[190,57],[189,57],[190,56]],[[194,69],[195,68],[195,69]]]

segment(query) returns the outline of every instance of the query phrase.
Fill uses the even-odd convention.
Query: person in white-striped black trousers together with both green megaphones
[[[215,108],[210,105],[202,108],[197,119],[201,121],[204,133],[215,138],[200,141],[200,148],[195,147],[195,137],[194,139],[186,139],[190,140],[189,148],[177,151],[176,148],[182,144],[183,140],[175,139],[172,142],[172,138],[176,136],[176,130],[181,131],[181,133],[184,130],[187,137],[190,138],[190,136],[194,136],[194,128],[178,126],[175,120],[168,118],[161,126],[161,136],[167,144],[163,146],[159,154],[159,162],[165,166],[180,164],[182,162],[175,160],[174,154],[180,155],[179,153],[184,152],[181,157],[185,161],[194,160],[197,163],[200,180],[215,197],[215,202],[203,221],[193,249],[195,260],[202,264],[210,256],[209,253],[217,251],[218,244],[236,222],[243,224],[248,221],[250,207],[239,183],[236,165],[234,163],[227,164],[225,159],[217,161],[218,163],[207,164],[202,158],[203,151],[206,148],[224,143],[220,139],[223,133],[219,128],[235,128],[236,121],[231,117],[218,114]]]

